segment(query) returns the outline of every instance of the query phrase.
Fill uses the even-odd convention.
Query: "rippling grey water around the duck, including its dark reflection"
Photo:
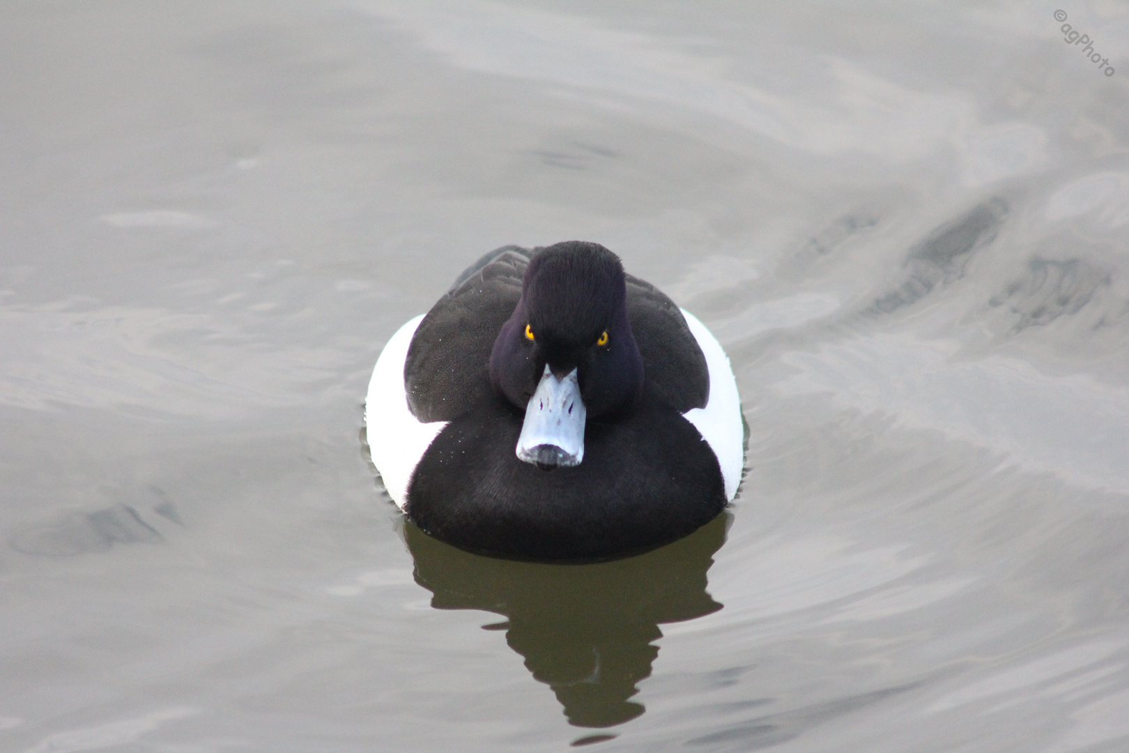
[[[1129,746],[1129,6],[11,1],[0,176],[0,750]],[[453,550],[369,373],[566,239],[726,347],[742,490]]]

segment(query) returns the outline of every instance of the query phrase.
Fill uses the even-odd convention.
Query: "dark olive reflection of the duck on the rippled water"
[[[415,580],[437,610],[484,610],[533,677],[553,689],[578,727],[611,727],[644,712],[631,701],[658,656],[658,625],[721,608],[706,571],[725,543],[724,513],[660,549],[610,562],[548,564],[472,554],[405,524]]]

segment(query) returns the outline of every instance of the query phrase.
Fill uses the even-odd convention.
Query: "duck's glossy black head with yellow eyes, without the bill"
[[[545,394],[545,378],[563,384],[570,376],[583,399],[583,406],[575,408],[588,419],[613,419],[642,392],[642,357],[628,321],[623,264],[599,244],[578,240],[533,256],[522,298],[490,353],[495,389],[523,410],[534,393]],[[567,417],[568,404],[560,408]],[[528,411],[526,415],[528,428]]]

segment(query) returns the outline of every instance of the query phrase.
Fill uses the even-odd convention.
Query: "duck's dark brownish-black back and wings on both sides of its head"
[[[420,421],[450,421],[493,395],[490,349],[522,297],[522,277],[536,251],[490,252],[420,322],[404,362],[408,403]],[[682,312],[654,286],[631,275],[627,283],[646,389],[679,413],[704,408],[709,370]]]

